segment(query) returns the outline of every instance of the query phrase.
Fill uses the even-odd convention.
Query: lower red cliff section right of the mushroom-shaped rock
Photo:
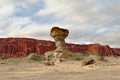
[[[75,45],[75,44],[68,44],[68,49],[73,52],[80,52],[85,54],[96,53],[100,54],[101,56],[113,56],[120,54],[120,48],[113,49],[110,48],[108,45],[100,45],[100,44],[89,44],[89,45]]]

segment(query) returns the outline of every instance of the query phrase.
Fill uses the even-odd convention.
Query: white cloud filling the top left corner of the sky
[[[29,5],[39,1],[40,0],[0,0],[0,19],[11,16],[20,8],[27,8]]]

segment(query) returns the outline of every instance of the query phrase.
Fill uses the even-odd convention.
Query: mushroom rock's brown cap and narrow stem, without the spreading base
[[[53,27],[51,29],[50,35],[55,40],[56,49],[54,51],[55,57],[61,57],[63,52],[66,50],[65,38],[68,36],[69,31],[67,29],[62,29],[58,27]]]

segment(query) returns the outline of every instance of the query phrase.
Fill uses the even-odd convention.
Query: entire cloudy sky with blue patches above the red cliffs
[[[120,47],[120,0],[0,0],[0,38],[53,40],[53,26],[69,43]]]

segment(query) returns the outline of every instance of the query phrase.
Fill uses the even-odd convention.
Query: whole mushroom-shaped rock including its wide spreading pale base
[[[65,45],[65,38],[68,36],[69,31],[59,27],[53,27],[50,35],[54,38],[56,49],[45,53],[45,58],[50,60],[50,57],[55,60],[70,58],[73,56],[73,52],[69,51]]]

